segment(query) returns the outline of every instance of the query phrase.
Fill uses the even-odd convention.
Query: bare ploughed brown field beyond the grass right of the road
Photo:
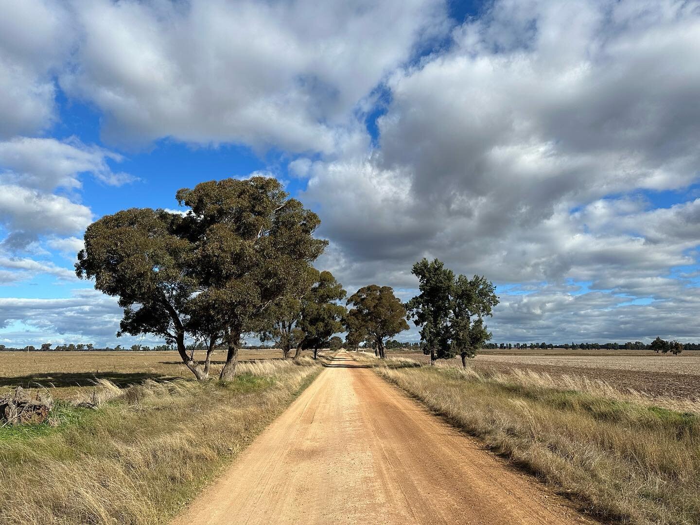
[[[415,351],[390,351],[428,363],[428,356]],[[459,358],[438,360],[439,365],[462,365]],[[680,356],[651,350],[482,350],[469,361],[477,372],[510,372],[514,369],[552,375],[576,375],[600,379],[625,390],[674,399],[700,399],[700,351]]]

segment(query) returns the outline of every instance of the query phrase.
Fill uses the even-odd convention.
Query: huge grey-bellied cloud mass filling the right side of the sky
[[[696,263],[700,203],[645,193],[699,179],[698,49],[696,1],[496,0],[389,78],[377,146],[309,168],[323,263],[353,286],[414,287],[423,256],[531,283],[502,294],[499,337],[625,338],[654,316],[649,337],[696,333],[692,283],[670,274]]]

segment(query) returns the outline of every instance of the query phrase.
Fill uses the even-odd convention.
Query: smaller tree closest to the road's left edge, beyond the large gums
[[[312,349],[314,359],[318,349],[327,346],[330,337],[343,330],[346,309],[337,301],[345,297],[345,290],[328,271],[316,271],[314,286],[302,297],[301,315],[296,328],[300,332],[295,359],[301,356],[302,349]]]

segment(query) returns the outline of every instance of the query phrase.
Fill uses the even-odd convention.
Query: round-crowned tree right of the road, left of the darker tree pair
[[[363,286],[349,297],[347,304],[353,306],[347,314],[347,323],[377,345],[376,351],[382,359],[386,357],[384,340],[409,329],[406,309],[391,286]]]

